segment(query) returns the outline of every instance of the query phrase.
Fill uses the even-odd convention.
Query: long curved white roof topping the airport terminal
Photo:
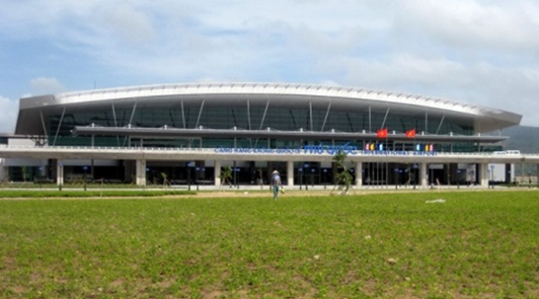
[[[66,92],[55,95],[37,96],[21,99],[17,131],[24,126],[24,111],[34,111],[53,106],[97,104],[105,101],[133,101],[134,99],[176,99],[203,96],[207,100],[216,100],[231,96],[244,95],[260,98],[263,101],[278,101],[287,106],[298,101],[323,101],[349,106],[371,106],[380,109],[416,111],[433,115],[451,115],[464,119],[473,119],[476,132],[490,132],[500,128],[518,125],[521,115],[505,110],[491,109],[456,101],[430,98],[406,93],[383,92],[353,87],[323,86],[316,84],[278,84],[278,83],[199,83],[199,84],[159,84],[134,87],[121,87],[82,92]],[[291,101],[293,100],[293,101]],[[31,115],[26,115],[31,116]],[[23,119],[22,119],[23,118]],[[35,124],[34,124],[35,125]],[[40,124],[38,124],[40,126]],[[22,126],[22,127],[21,127]]]

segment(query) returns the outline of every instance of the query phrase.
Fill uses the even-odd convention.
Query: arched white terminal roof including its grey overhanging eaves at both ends
[[[398,111],[429,118],[452,117],[464,119],[474,126],[475,133],[485,133],[516,126],[521,115],[506,110],[447,101],[420,95],[382,92],[342,86],[316,84],[221,83],[221,84],[160,84],[113,89],[66,92],[23,98],[20,102],[17,134],[39,135],[51,113],[86,108],[107,108],[112,105],[137,102],[138,107],[182,101],[186,104],[200,100],[223,105],[271,105],[279,107],[328,107],[331,110]]]

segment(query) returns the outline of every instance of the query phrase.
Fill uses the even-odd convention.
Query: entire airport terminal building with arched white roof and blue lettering
[[[411,94],[313,84],[162,84],[22,98],[4,136],[4,180],[219,186],[326,185],[347,154],[358,186],[493,180],[489,163],[522,163],[491,132],[505,110]],[[487,134],[489,133],[489,134]],[[503,178],[514,173],[505,169]]]

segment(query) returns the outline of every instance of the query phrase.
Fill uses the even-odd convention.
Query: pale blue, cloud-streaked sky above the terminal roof
[[[349,86],[539,127],[535,0],[0,0],[0,132],[19,99],[199,82]]]

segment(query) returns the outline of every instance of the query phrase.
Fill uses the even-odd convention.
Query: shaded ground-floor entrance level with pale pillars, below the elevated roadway
[[[270,184],[271,171],[278,170],[283,184],[299,189],[327,187],[336,183],[342,169],[330,161],[267,162],[267,161],[144,161],[135,160],[57,160],[40,161],[37,166],[4,166],[10,182],[57,182],[61,168],[61,183],[80,181],[102,183],[145,184],[171,186],[240,186]],[[218,167],[219,169],[216,169]],[[515,164],[499,163],[355,163],[348,162],[352,185],[367,188],[389,186],[493,186],[523,183],[517,181]],[[358,168],[358,169],[357,169]],[[230,176],[221,181],[229,170]],[[360,172],[358,172],[360,171]],[[521,176],[522,177],[522,176]],[[531,172],[526,181],[531,185]],[[223,178],[224,179],[224,178]],[[219,181],[216,181],[219,180]],[[535,181],[535,180],[534,180]]]

